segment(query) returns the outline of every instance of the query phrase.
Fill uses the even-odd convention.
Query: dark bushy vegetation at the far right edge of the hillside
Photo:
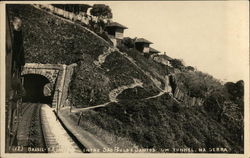
[[[231,86],[235,86],[233,92]],[[211,92],[204,103],[206,111],[211,114],[212,118],[231,131],[232,138],[239,147],[240,152],[243,152],[243,148],[240,148],[240,146],[244,142],[243,94],[243,81],[238,81],[236,84],[226,83],[222,89]]]

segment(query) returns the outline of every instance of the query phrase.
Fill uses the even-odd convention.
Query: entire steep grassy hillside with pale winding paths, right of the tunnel
[[[109,133],[158,152],[164,148],[193,148],[194,152],[227,148],[243,153],[243,94],[234,102],[235,93],[210,75],[185,70],[174,73],[173,68],[135,49],[121,52],[83,26],[31,5],[8,5],[8,9],[22,19],[26,62],[77,64],[69,100],[75,108],[106,105],[83,112],[82,122],[100,129],[86,130],[100,139],[105,141]],[[169,87],[171,93],[165,93]],[[176,87],[185,96],[201,98],[202,106],[187,107],[185,101],[174,98]],[[79,113],[69,117],[77,116]],[[119,146],[119,140],[111,142],[114,144]]]

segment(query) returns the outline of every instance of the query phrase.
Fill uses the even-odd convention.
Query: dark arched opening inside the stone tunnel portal
[[[27,74],[24,77],[24,102],[52,104],[53,87],[50,81],[38,74]]]

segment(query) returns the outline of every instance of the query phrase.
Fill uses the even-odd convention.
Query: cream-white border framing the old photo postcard
[[[84,3],[84,1],[10,1],[10,2],[0,2],[0,29],[1,29],[1,34],[0,34],[0,89],[1,89],[1,95],[0,95],[0,116],[1,116],[1,124],[0,124],[0,129],[1,129],[1,146],[0,146],[0,152],[1,156],[0,157],[14,157],[14,158],[26,158],[26,157],[90,157],[90,158],[96,158],[96,157],[121,157],[121,158],[128,158],[128,157],[139,157],[139,158],[149,158],[149,157],[170,157],[170,158],[180,158],[180,157],[185,157],[185,158],[246,158],[250,157],[250,129],[249,129],[249,65],[248,69],[246,70],[246,76],[244,78],[244,154],[213,154],[213,153],[204,153],[204,154],[193,154],[193,153],[159,153],[159,154],[152,154],[152,153],[91,153],[91,154],[84,154],[84,153],[72,153],[72,154],[6,154],[5,153],[5,4],[32,4],[32,3]],[[100,3],[103,1],[100,1]],[[249,8],[249,1],[248,2],[248,8]],[[142,2],[143,3],[143,2]],[[249,15],[249,11],[247,13]],[[249,24],[249,19],[248,24]],[[245,41],[244,41],[245,42]],[[249,46],[249,30],[248,30],[248,46]],[[249,47],[248,47],[249,48]],[[249,51],[249,50],[248,50]],[[248,54],[248,59],[249,54]]]

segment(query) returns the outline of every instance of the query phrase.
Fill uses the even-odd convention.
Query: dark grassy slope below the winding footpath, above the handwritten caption
[[[84,120],[125,137],[144,148],[226,147],[242,152],[229,129],[212,119],[201,107],[178,111],[168,96],[150,100],[126,100],[95,113],[85,112]],[[177,112],[178,111],[178,112]],[[108,123],[107,123],[108,122]]]

